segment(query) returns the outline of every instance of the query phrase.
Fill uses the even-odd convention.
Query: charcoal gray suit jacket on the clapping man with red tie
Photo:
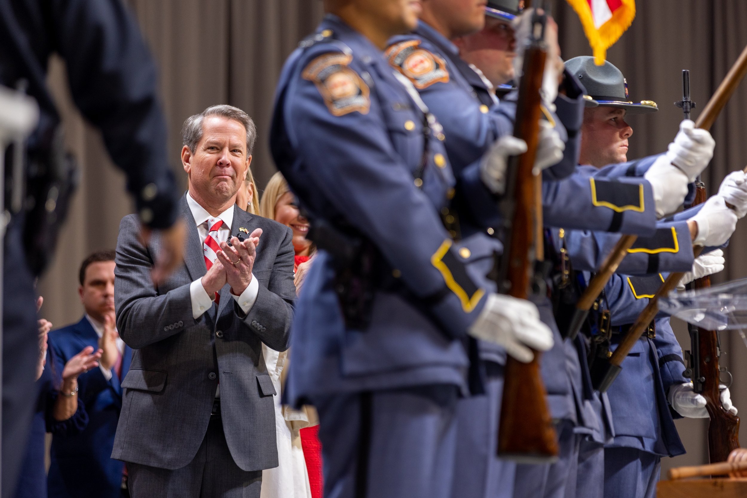
[[[275,389],[267,375],[261,343],[285,351],[293,319],[292,231],[276,221],[234,210],[232,235],[239,227],[263,230],[252,273],[259,294],[247,315],[230,295],[220,306],[192,317],[190,283],[205,274],[202,241],[185,197],[185,265],[158,288],[150,271],[159,240],[139,239],[135,215],[123,218],[117,239],[114,298],[117,328],[134,349],[122,381],[122,414],[112,458],[178,469],[199,449],[208,428],[220,380],[223,431],[231,455],[243,470],[277,467]]]

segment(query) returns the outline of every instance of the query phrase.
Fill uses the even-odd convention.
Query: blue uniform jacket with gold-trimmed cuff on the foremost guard
[[[465,332],[501,247],[483,234],[452,243],[439,212],[456,178],[440,125],[403,80],[332,15],[282,70],[270,137],[276,165],[312,224],[327,221],[374,245],[377,273],[391,280],[373,289],[368,327],[346,330],[335,262],[320,250],[297,301],[291,402],[423,384],[467,388]]]

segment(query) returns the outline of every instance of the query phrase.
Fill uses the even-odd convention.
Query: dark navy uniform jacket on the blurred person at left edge
[[[46,88],[53,53],[65,60],[75,106],[101,130],[111,159],[127,174],[143,221],[170,227],[179,189],[167,159],[155,64],[134,16],[119,0],[0,1],[0,84],[25,79],[40,105],[30,149],[59,122]]]

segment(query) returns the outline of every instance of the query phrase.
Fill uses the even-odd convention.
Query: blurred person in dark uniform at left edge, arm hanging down
[[[7,203],[13,214],[3,265],[3,497],[14,491],[34,400],[28,396],[39,355],[33,281],[52,259],[74,183],[60,116],[46,87],[52,53],[66,62],[75,105],[101,130],[111,158],[127,174],[145,230],[163,230],[154,277],[163,278],[181,260],[183,229],[175,224],[177,188],[168,167],[155,64],[134,17],[119,0],[0,0],[0,84],[25,87],[40,108],[23,156],[26,175],[6,177],[9,183],[25,181],[29,202],[23,209]]]

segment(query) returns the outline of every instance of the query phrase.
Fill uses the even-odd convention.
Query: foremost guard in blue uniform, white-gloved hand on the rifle
[[[320,249],[297,301],[288,401],[319,412],[326,497],[449,497],[457,399],[482,387],[474,338],[527,361],[552,334],[529,301],[491,292],[495,239],[453,240],[464,213],[450,201],[472,193],[382,56],[420,4],[324,7],[282,70],[270,136]]]

